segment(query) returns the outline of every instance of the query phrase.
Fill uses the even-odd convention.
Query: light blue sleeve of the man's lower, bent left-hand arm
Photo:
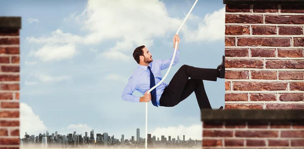
[[[137,81],[134,77],[130,77],[123,93],[122,100],[128,102],[139,103],[139,96],[133,95],[133,92],[138,88]]]

